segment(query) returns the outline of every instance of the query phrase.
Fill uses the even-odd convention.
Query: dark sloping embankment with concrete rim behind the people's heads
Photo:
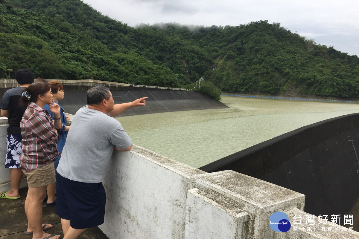
[[[65,98],[59,101],[59,104],[65,109],[65,113],[69,114],[75,114],[80,107],[87,105],[86,91],[96,85],[107,86],[111,90],[115,104],[131,102],[141,97],[148,97],[148,99],[146,99],[146,107],[131,108],[119,116],[229,108],[222,102],[189,89],[136,86],[97,80],[58,81],[62,83],[65,91]],[[0,97],[4,95],[6,90],[13,87],[17,87],[15,79],[0,79]]]

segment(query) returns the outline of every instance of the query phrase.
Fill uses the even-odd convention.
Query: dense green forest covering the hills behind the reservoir
[[[188,87],[204,77],[228,92],[359,97],[357,56],[267,21],[131,28],[80,0],[0,0],[0,45],[0,78],[28,68],[43,78]]]

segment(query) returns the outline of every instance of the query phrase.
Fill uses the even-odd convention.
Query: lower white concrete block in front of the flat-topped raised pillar
[[[197,188],[187,191],[186,239],[246,238],[248,213]]]

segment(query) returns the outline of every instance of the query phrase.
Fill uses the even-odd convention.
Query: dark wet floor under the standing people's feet
[[[24,204],[28,188],[20,189],[20,199],[0,199],[0,238],[1,239],[31,239],[32,236],[25,234],[27,229],[27,218]],[[43,223],[53,224],[48,233],[61,235],[64,238],[61,228],[61,220],[55,214],[55,206],[42,206]],[[108,239],[98,228],[89,228],[78,239]]]

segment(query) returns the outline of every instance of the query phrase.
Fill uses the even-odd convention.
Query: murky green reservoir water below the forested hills
[[[232,96],[222,96],[222,102],[230,109],[136,115],[117,120],[132,143],[199,168],[302,126],[359,113],[358,103]]]

